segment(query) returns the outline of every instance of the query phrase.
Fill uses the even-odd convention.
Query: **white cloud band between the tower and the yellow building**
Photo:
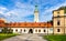
[[[66,1],[63,2],[63,3],[57,3],[56,6],[53,6],[51,8],[47,8],[46,10],[44,10],[42,12],[42,14],[40,16],[40,21],[48,21],[48,20],[52,20],[52,17],[53,17],[53,10],[57,10],[58,8],[61,7],[66,7]],[[41,19],[42,18],[42,19]]]

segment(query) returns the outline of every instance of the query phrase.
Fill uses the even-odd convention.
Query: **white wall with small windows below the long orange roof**
[[[18,29],[18,32],[15,31],[15,29]],[[22,32],[21,32],[21,29],[22,29]],[[32,29],[33,30],[33,33],[53,33],[53,28],[12,28],[13,30],[13,33],[29,33],[29,30]],[[25,30],[25,32],[24,32]],[[35,31],[37,30],[37,32]],[[38,32],[38,30],[41,30],[41,32]],[[45,30],[45,32],[44,32]]]

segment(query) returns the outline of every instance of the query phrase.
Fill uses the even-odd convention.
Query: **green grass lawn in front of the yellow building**
[[[44,39],[48,41],[66,41],[66,34],[56,34],[56,35],[44,35]]]

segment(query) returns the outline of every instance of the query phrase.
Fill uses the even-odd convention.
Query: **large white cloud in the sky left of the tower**
[[[29,16],[32,16],[34,12],[34,7],[31,4],[24,4],[21,2],[15,3],[15,8],[12,10],[1,8],[1,13],[9,21],[31,21],[28,19]],[[25,20],[26,19],[26,20]]]

